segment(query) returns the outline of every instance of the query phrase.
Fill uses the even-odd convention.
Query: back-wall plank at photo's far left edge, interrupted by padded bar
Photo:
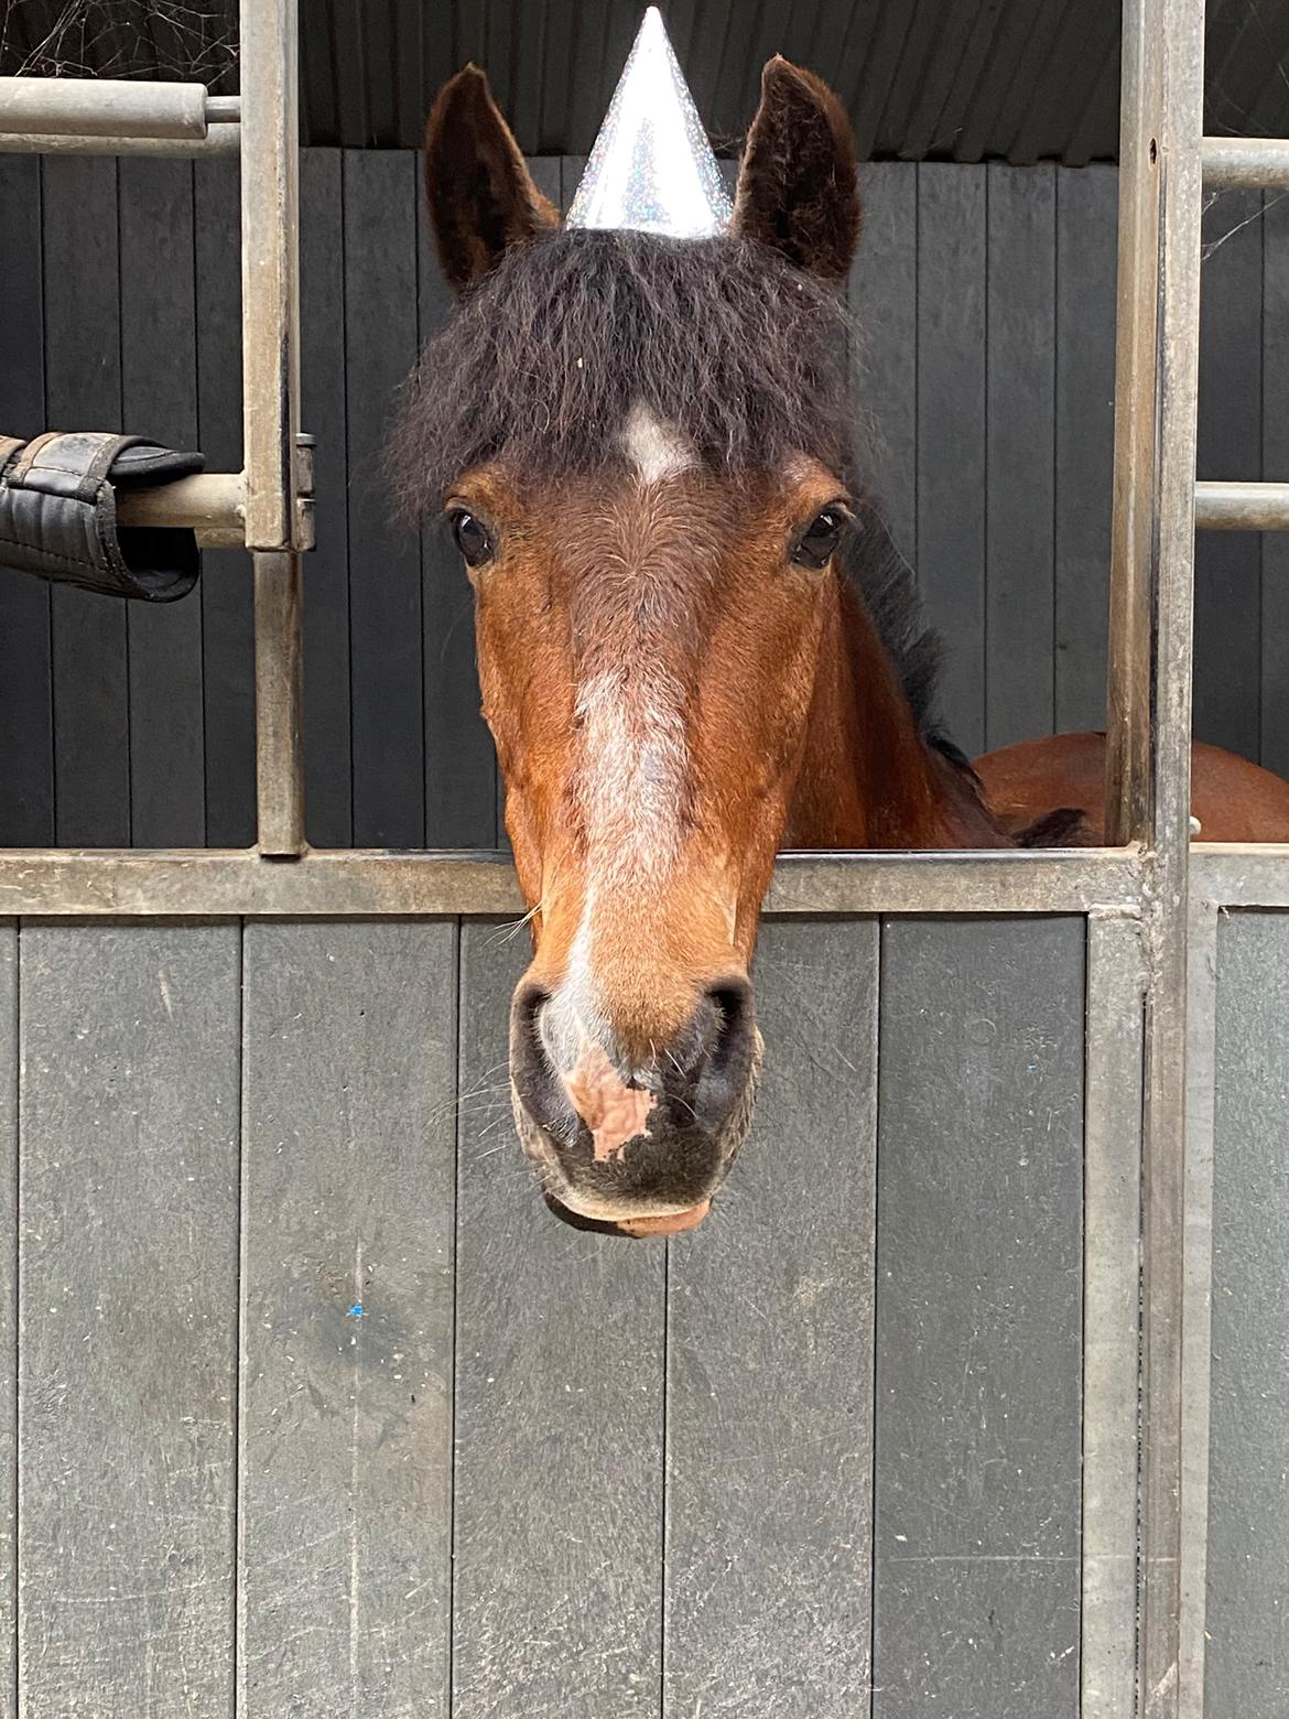
[[[40,160],[0,160],[0,433],[45,428]],[[50,588],[0,566],[0,846],[53,841]]]

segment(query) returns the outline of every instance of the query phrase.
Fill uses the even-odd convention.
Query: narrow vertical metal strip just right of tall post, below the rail
[[[1179,1719],[1205,1716],[1219,908],[1191,887],[1182,1315]]]

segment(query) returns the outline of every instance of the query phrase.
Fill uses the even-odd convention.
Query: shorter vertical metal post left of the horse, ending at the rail
[[[256,588],[258,846],[284,856],[304,847],[297,100],[297,0],[242,0],[242,433]]]

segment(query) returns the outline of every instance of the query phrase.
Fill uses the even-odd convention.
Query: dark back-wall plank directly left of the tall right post
[[[1115,217],[1114,167],[1057,172],[1057,732],[1105,727]]]

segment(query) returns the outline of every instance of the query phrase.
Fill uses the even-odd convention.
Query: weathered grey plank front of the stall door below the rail
[[[653,1245],[538,1198],[512,925],[0,927],[21,1712],[1072,1716],[1081,923],[880,935],[765,928]]]

